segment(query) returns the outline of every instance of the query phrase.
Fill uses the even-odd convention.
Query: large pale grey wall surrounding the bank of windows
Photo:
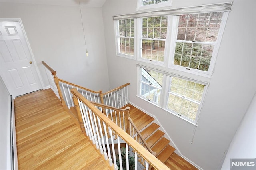
[[[256,24],[252,17],[256,2],[234,0],[192,143],[194,125],[136,97],[136,63],[140,62],[116,56],[112,16],[136,12],[136,2],[106,0],[102,9],[110,87],[130,82],[130,101],[157,117],[184,157],[203,169],[220,169],[224,153],[256,91]],[[172,2],[172,8],[178,8],[226,0]]]

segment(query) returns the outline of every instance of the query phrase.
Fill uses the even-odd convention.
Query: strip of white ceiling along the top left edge
[[[81,6],[102,7],[106,0],[80,0]],[[22,4],[44,4],[60,6],[78,6],[79,0],[0,0],[0,2]]]

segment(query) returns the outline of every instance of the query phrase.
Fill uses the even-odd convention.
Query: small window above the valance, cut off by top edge
[[[172,6],[172,0],[138,0],[137,10]]]

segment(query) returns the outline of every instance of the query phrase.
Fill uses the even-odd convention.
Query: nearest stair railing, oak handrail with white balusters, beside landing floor
[[[114,166],[114,169],[123,170],[125,167],[129,169],[129,149],[134,150],[135,165],[134,169],[138,168],[138,155],[140,155],[146,161],[146,170],[149,166],[154,167],[156,170],[169,170],[160,160],[152,155],[146,148],[141,146],[134,138],[124,132],[122,128],[111,121],[104,113],[97,109],[93,103],[84,98],[77,89],[71,89],[71,93],[74,95],[74,103],[78,103],[81,117],[84,122],[84,127],[87,129],[86,135],[92,143],[99,149],[100,153],[104,156],[105,160],[108,160],[110,166]],[[108,127],[108,129],[107,129]],[[110,140],[104,137],[109,130]],[[115,134],[115,135],[113,135]],[[118,152],[116,153],[114,147],[114,136],[116,136],[116,142],[118,144]],[[122,155],[120,148],[120,140],[125,142],[126,150],[126,164],[122,164]],[[105,145],[106,144],[106,145]],[[129,148],[128,148],[129,147]],[[111,157],[112,153],[112,157]],[[117,158],[118,157],[118,158]],[[117,160],[120,162],[120,166],[117,165]]]

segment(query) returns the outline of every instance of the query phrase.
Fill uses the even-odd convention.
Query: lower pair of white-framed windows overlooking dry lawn
[[[164,109],[191,123],[196,123],[206,91],[205,85],[143,67],[140,67],[139,71],[140,97],[159,107],[166,103],[163,106]],[[162,91],[163,85],[167,86],[166,91]],[[164,99],[164,93],[166,93],[166,99]]]

